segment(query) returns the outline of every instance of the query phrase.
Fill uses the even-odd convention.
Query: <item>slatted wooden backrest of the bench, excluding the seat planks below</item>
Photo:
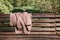
[[[32,14],[31,34],[59,34],[60,14]],[[0,34],[16,34],[15,27],[9,25],[10,14],[0,15]],[[4,32],[4,33],[3,33]]]

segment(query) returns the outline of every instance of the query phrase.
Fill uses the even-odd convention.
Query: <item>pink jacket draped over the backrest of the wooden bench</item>
[[[10,26],[17,26],[15,28],[16,33],[30,34],[32,15],[27,12],[10,14]]]

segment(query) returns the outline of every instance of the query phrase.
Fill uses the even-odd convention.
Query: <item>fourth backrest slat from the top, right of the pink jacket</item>
[[[54,32],[55,30],[60,31],[60,27],[55,27],[54,28],[40,28],[40,27],[33,27],[32,32]]]

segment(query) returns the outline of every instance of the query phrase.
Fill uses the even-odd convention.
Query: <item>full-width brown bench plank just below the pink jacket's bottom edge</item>
[[[20,35],[20,34],[18,34],[18,35],[0,35],[0,38],[60,38],[60,36],[57,36],[57,35],[43,35],[43,34],[41,34],[41,35],[36,35],[36,34],[34,34],[34,35]]]

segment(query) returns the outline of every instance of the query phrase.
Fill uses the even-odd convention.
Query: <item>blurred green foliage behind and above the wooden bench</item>
[[[0,0],[0,14],[14,12],[59,13],[60,0]]]

